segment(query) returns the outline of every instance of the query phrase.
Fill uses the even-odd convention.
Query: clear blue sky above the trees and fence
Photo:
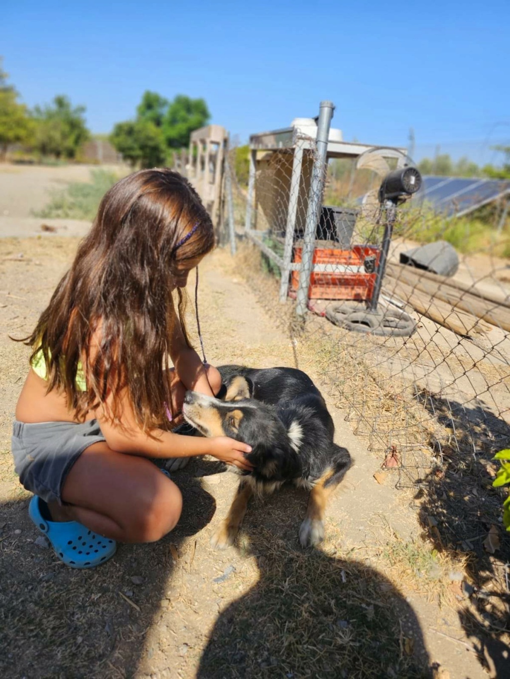
[[[202,96],[241,141],[337,109],[344,139],[497,160],[510,144],[510,0],[3,3],[3,68],[25,103],[67,94],[93,132],[144,90]],[[483,150],[485,149],[485,150]]]

